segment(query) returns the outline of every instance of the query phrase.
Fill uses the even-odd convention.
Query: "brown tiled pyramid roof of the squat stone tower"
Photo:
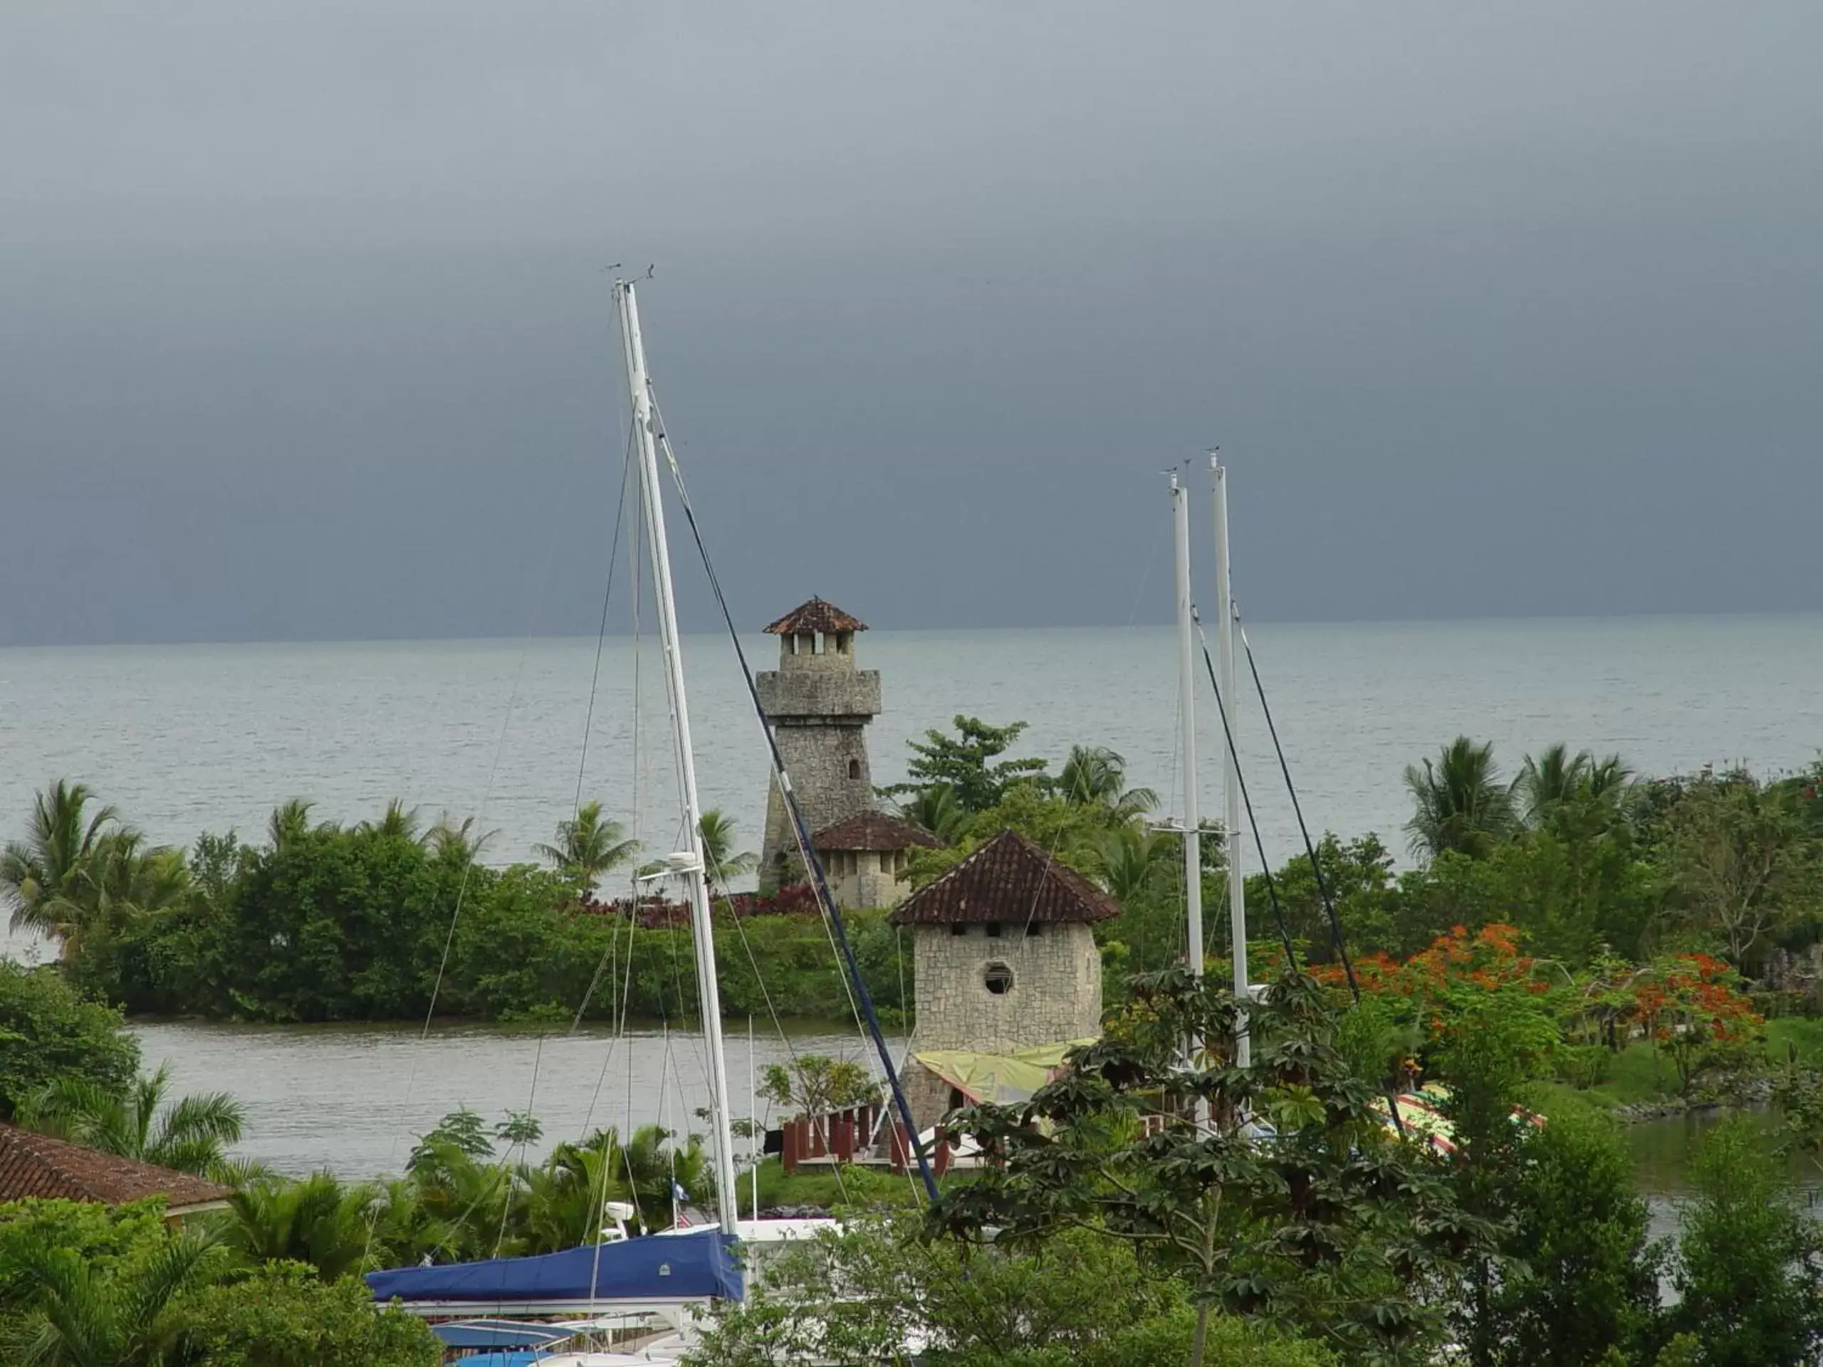
[[[888,917],[895,926],[959,920],[1107,920],[1119,906],[1063,860],[1017,831],[1001,831]]]

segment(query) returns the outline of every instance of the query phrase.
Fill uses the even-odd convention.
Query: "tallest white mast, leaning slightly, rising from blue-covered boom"
[[[640,339],[640,304],[631,281],[614,281],[620,310],[622,350],[627,361],[627,392],[633,397],[633,432],[640,445],[640,501],[645,509],[645,540],[653,560],[653,596],[658,600],[658,632],[665,651],[665,691],[671,694],[678,786],[684,807],[684,849],[667,860],[689,893],[696,948],[696,999],[702,1010],[704,1046],[709,1054],[709,1126],[715,1141],[715,1199],[722,1232],[735,1232],[735,1143],[729,1134],[727,1059],[722,1054],[722,993],[715,981],[715,933],[709,920],[709,882],[702,858],[702,807],[696,802],[696,758],[689,738],[689,702],[684,694],[684,647],[678,611],[671,592],[671,547],[665,541],[665,505],[658,485],[658,423],[645,377],[645,344]]]

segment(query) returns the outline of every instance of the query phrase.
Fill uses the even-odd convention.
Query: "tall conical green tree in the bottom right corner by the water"
[[[1694,1336],[1703,1363],[1797,1367],[1823,1347],[1823,1238],[1792,1208],[1785,1174],[1752,1121],[1717,1125],[1690,1168],[1672,1263],[1672,1329]]]

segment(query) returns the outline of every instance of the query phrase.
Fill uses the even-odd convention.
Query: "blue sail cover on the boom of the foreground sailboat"
[[[450,1267],[397,1267],[368,1272],[374,1300],[472,1301],[514,1305],[587,1301],[589,1272],[598,1301],[689,1301],[720,1296],[740,1300],[735,1239],[718,1228],[693,1234],[647,1234],[638,1239],[565,1249],[536,1258],[490,1258]]]

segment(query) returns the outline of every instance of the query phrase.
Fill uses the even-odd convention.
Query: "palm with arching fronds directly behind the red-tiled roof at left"
[[[241,1143],[246,1115],[226,1092],[166,1105],[170,1066],[111,1092],[82,1077],[58,1077],[20,1106],[20,1125],[117,1157],[230,1181],[228,1146]]]

